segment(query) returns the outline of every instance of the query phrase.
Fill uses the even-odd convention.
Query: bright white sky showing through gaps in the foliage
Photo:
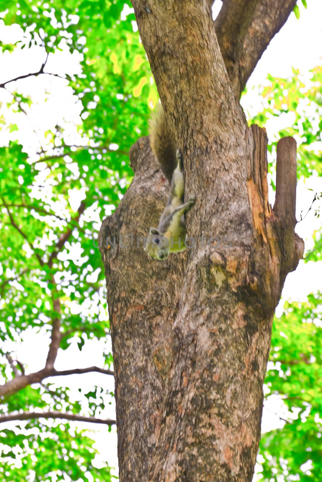
[[[221,1],[217,0],[213,7],[214,16],[218,13],[220,6]],[[295,67],[299,68],[300,72],[306,75],[308,69],[321,65],[322,2],[321,0],[308,0],[307,10],[299,2],[299,8],[301,13],[300,20],[296,20],[294,13],[291,14],[286,25],[271,41],[248,82],[248,94],[243,98],[243,105],[254,109],[255,112],[257,112],[256,108],[258,107],[256,106],[259,105],[259,99],[256,90],[252,91],[251,87],[263,83],[268,73],[275,77],[287,77],[292,74],[292,67]],[[4,27],[2,20],[0,20],[0,40],[14,42],[21,36],[22,30],[20,27]],[[29,51],[15,50],[13,54],[6,52],[0,57],[0,82],[28,72],[38,71],[44,58],[42,49],[37,47]],[[80,54],[76,52],[72,55],[67,52],[57,52],[55,55],[50,54],[45,70],[59,74],[64,74],[65,72],[69,74],[80,73],[79,59]],[[28,120],[24,114],[21,114],[17,122],[17,115],[13,117],[5,107],[6,101],[10,99],[10,94],[3,89],[0,92],[0,101],[3,102],[0,114],[2,113],[5,116],[7,122],[19,124],[19,131],[12,133],[10,139],[14,140],[17,138],[25,146],[29,155],[37,152],[40,146],[45,147],[47,145],[43,133],[45,130],[54,130],[56,124],[63,125],[66,128],[66,142],[80,144],[80,137],[76,132],[75,126],[81,123],[81,105],[72,96],[71,89],[67,86],[65,80],[51,76],[40,76],[8,84],[7,88],[9,90],[19,88],[20,92],[30,95],[33,99],[32,107],[28,112]],[[46,103],[44,103],[45,97],[48,98]],[[266,128],[268,138],[273,138],[274,134],[281,127],[279,120],[275,123],[271,122]],[[8,135],[0,132],[0,145],[7,145],[8,141]],[[312,191],[309,191],[308,188],[313,189],[314,192],[322,191],[321,178],[312,175],[305,183],[303,180],[298,182],[298,219],[299,213],[302,210],[306,213],[312,201]],[[274,202],[273,198],[274,193],[271,192],[271,204]],[[70,199],[70,203],[77,203],[78,205],[78,200]],[[315,207],[317,208],[318,205],[316,204]],[[99,218],[94,213],[87,213],[86,215],[90,217],[92,222],[96,222],[99,228]],[[297,225],[296,231],[306,241],[306,250],[313,245],[311,237],[313,230],[320,228],[320,226],[320,219],[314,218],[312,212],[308,214],[304,221]],[[317,263],[311,262],[307,265],[300,262],[296,271],[289,274],[286,279],[277,314],[281,313],[286,299],[304,301],[309,293],[316,292],[318,289],[321,290],[321,272],[322,261]],[[43,366],[49,344],[48,337],[47,343],[44,343],[44,339],[40,339],[40,336],[40,334],[28,330],[21,346],[15,347],[8,344],[4,349],[8,351],[14,350],[17,359],[27,363],[30,371],[38,370]],[[102,343],[91,341],[85,344],[80,353],[75,342],[68,350],[60,350],[56,369],[81,368],[92,365],[103,366],[102,348]],[[37,357],[33,356],[34,353],[37,353]],[[57,386],[69,386],[76,400],[79,397],[77,388],[79,387],[80,379],[78,377],[82,377],[81,385],[84,390],[90,389],[93,384],[104,387],[108,385],[107,388],[109,390],[114,389],[112,377],[100,374],[74,375],[68,378],[61,377],[61,380],[55,378],[53,381],[57,383]],[[271,398],[266,403],[262,421],[262,429],[264,431],[283,425],[279,416],[274,414],[284,417],[287,414],[281,400],[278,398]],[[288,415],[290,416],[290,414]],[[114,418],[114,407],[107,405],[102,416]],[[77,423],[77,425],[83,428],[90,427],[90,424]],[[112,428],[112,433],[108,433],[105,426],[93,426],[90,428],[97,430],[95,439],[97,440],[97,447],[100,453],[97,457],[98,464],[103,460],[107,460],[111,466],[117,467],[115,428]],[[308,467],[304,469],[307,470]],[[115,473],[117,473],[117,470]],[[92,481],[90,474],[88,474],[88,479],[90,482]]]

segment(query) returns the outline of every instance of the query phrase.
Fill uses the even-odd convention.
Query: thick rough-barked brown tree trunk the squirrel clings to
[[[252,62],[242,72],[230,68],[223,40],[231,13],[218,17],[220,46],[209,1],[132,3],[182,152],[185,196],[197,197],[187,215],[196,245],[191,240],[191,249],[163,262],[143,251],[168,184],[148,138],[139,139],[130,153],[133,182],[99,236],[120,480],[251,481],[274,310],[304,243],[294,234],[295,141],[278,144],[272,209],[266,132],[248,128],[237,95],[292,2],[285,2],[278,25],[271,25],[275,13],[259,17],[265,0],[248,2],[249,9],[241,0],[224,2],[239,12],[235,23],[243,33],[233,51],[241,62],[251,45]],[[278,2],[270,3],[268,12]],[[250,41],[254,18],[257,27],[266,26],[266,45],[259,41],[257,50]]]

